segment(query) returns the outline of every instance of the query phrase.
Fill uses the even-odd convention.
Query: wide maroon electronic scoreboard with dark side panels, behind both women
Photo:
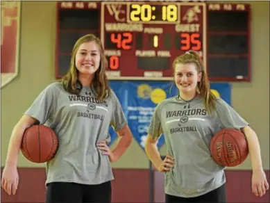
[[[78,38],[103,42],[110,80],[172,79],[174,58],[198,51],[210,81],[250,81],[250,7],[243,3],[60,1],[56,77]]]

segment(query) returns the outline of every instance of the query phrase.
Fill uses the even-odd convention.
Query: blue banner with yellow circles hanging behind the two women
[[[151,117],[160,101],[178,95],[174,83],[168,81],[110,81],[110,86],[117,95],[128,120],[133,137],[144,150]],[[230,104],[230,84],[212,83],[212,92]],[[111,143],[117,133],[110,128]],[[158,149],[164,145],[164,136],[158,140]]]

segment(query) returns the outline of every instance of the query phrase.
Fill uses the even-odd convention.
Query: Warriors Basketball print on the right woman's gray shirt
[[[197,122],[205,121],[205,109],[194,108],[182,111],[166,111],[166,125],[171,134],[189,131],[198,131]],[[192,122],[196,121],[196,122]]]

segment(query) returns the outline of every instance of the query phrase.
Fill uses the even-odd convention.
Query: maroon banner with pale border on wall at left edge
[[[1,88],[18,75],[20,1],[1,1]]]

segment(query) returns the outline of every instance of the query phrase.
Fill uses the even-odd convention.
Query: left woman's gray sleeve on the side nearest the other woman
[[[112,91],[112,118],[110,121],[111,126],[115,129],[115,131],[119,131],[126,124],[128,124],[126,117],[124,115],[124,111],[121,107],[119,99],[115,95],[115,92]]]

